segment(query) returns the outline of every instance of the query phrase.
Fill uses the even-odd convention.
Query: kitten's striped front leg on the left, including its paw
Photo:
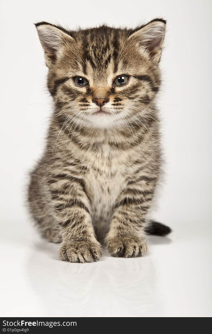
[[[84,181],[60,174],[54,175],[49,184],[53,215],[62,235],[61,259],[78,263],[98,261],[101,245],[95,238]]]

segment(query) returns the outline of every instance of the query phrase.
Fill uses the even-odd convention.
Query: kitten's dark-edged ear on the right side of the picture
[[[165,29],[165,20],[154,19],[141,28],[138,28],[129,38],[135,39],[140,47],[148,51],[152,62],[158,64],[161,57]]]

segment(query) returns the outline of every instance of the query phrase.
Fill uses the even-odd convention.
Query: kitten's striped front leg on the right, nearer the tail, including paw
[[[109,252],[114,257],[133,258],[147,253],[145,220],[154,192],[155,178],[140,176],[128,182],[119,196],[109,233]]]

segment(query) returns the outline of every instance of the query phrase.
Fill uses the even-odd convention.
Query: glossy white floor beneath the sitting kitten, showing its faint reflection
[[[1,234],[1,316],[211,317],[211,225],[172,224],[144,258],[58,259],[27,223]],[[21,226],[21,229],[20,229]],[[33,231],[33,233],[32,233]]]

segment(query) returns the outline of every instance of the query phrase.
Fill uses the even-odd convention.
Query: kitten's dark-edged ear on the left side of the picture
[[[60,27],[47,22],[39,22],[35,26],[45,52],[46,64],[51,67],[58,58],[63,45],[67,42],[72,42],[73,38],[62,28],[60,29]]]

